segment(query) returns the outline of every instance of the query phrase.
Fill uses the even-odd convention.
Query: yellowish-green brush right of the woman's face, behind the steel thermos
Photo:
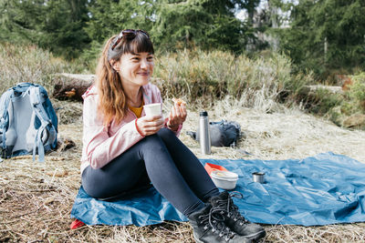
[[[253,106],[257,96],[294,99],[292,94],[310,79],[292,76],[286,56],[248,58],[199,49],[162,55],[156,60],[154,76],[166,96],[184,96],[189,102],[245,96],[247,106]]]

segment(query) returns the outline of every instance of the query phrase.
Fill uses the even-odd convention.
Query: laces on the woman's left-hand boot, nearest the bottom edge
[[[219,213],[220,209],[211,208],[208,214],[199,216],[200,223],[204,225],[204,229],[212,228],[212,232],[217,232],[220,238],[224,238],[225,241],[235,237],[235,232],[224,224],[224,217]]]

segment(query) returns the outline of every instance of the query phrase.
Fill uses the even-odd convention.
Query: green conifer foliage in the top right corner
[[[365,66],[365,1],[300,0],[289,8],[281,48],[301,68],[325,75]]]

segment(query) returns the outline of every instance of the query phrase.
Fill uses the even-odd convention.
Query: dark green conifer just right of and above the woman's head
[[[235,18],[235,2],[161,1],[152,27],[157,43],[164,48],[180,45],[243,51],[249,27]]]

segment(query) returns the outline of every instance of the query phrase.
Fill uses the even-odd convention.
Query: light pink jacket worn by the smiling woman
[[[113,158],[120,156],[128,148],[136,144],[143,137],[137,131],[135,119],[137,116],[128,110],[127,116],[119,125],[113,120],[109,127],[102,124],[103,115],[97,112],[99,95],[97,87],[90,86],[82,96],[83,107],[83,137],[81,174],[89,165],[93,168],[100,168],[107,165]],[[148,84],[142,86],[144,104],[162,103],[160,89],[157,86]],[[145,116],[142,111],[141,116]],[[165,120],[165,124],[167,122]],[[182,126],[179,127],[176,136],[179,136]]]

